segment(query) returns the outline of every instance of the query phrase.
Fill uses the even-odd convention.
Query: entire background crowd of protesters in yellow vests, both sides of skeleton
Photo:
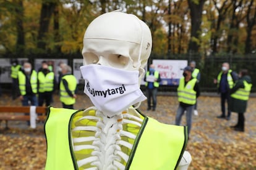
[[[58,77],[54,74],[53,63],[43,61],[41,68],[37,71],[33,70],[31,63],[24,62],[20,65],[18,60],[12,60],[11,78],[12,78],[12,99],[19,99],[23,106],[49,106],[53,102],[53,93],[58,91],[59,100],[63,108],[74,108],[75,99],[77,98],[77,80],[72,75],[72,68],[66,63],[60,62],[58,65]],[[199,81],[200,70],[195,68],[196,63],[190,62],[184,68],[184,78],[181,78],[179,87],[177,87],[177,95],[179,107],[177,109],[176,124],[181,123],[182,115],[186,114],[187,126],[189,132],[192,126],[192,114],[198,115],[197,97],[200,95]],[[153,65],[151,65],[153,68]],[[153,70],[153,69],[151,69]],[[161,78],[157,71],[154,76],[155,84],[160,85]],[[148,73],[150,73],[148,71]],[[145,75],[145,79],[149,76]],[[157,77],[157,78],[155,78]],[[194,81],[195,80],[195,81]],[[148,82],[147,80],[145,80]],[[182,83],[184,81],[184,83]],[[192,84],[191,84],[192,82]],[[229,120],[231,111],[236,112],[237,124],[231,126],[235,131],[244,131],[244,113],[247,108],[247,100],[249,99],[252,81],[249,72],[242,69],[239,73],[229,68],[229,63],[224,62],[220,73],[213,80],[218,89],[221,99],[221,115],[217,116],[220,119]],[[157,89],[155,87],[153,89]],[[188,89],[187,87],[193,87]],[[148,86],[147,86],[148,87]],[[148,110],[151,109],[151,97],[148,93]],[[194,94],[194,95],[190,95]],[[190,99],[191,98],[191,99]],[[155,99],[155,100],[154,100]],[[153,111],[156,108],[156,93],[153,95]],[[227,114],[226,114],[227,112]]]

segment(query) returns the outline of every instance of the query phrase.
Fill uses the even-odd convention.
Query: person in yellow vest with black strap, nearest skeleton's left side
[[[61,65],[62,78],[59,84],[59,95],[63,108],[74,109],[75,94],[77,89],[77,79],[71,74],[71,67],[69,65]]]

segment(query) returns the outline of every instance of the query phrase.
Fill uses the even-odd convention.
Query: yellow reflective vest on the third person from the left
[[[46,75],[40,71],[38,73],[39,89],[38,92],[51,92],[54,87],[54,73],[49,72]]]

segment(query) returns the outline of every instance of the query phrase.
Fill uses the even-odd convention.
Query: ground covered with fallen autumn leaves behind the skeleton
[[[19,99],[1,97],[1,105],[20,105]],[[58,96],[54,96],[53,107],[61,107]],[[92,104],[85,95],[79,95],[75,109]],[[162,123],[174,124],[178,102],[171,95],[158,96],[156,111],[147,111],[147,102],[140,110]],[[198,99],[198,116],[193,116],[192,130],[187,150],[192,155],[189,169],[256,169],[256,98],[249,100],[245,113],[245,132],[233,131],[237,113],[229,121],[218,119],[220,97],[202,96]],[[185,116],[182,124],[186,124]],[[29,129],[24,122],[9,122],[9,129],[0,126],[0,169],[44,169],[46,141],[43,123]],[[171,135],[171,134],[170,134]]]

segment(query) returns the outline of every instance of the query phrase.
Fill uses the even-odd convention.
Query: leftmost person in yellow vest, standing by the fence
[[[21,66],[17,59],[11,60],[11,64],[12,100],[15,100],[19,92],[18,72],[20,71]]]

